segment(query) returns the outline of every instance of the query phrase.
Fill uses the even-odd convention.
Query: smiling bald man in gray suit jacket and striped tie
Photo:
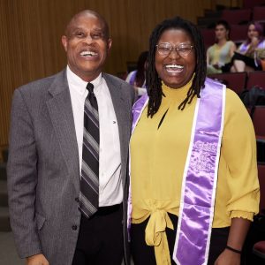
[[[8,162],[12,231],[27,265],[118,265],[124,253],[128,262],[123,220],[133,87],[102,73],[111,40],[95,11],[76,14],[62,43],[66,70],[14,93]]]

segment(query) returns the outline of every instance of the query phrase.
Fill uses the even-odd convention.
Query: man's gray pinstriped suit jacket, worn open
[[[121,79],[105,73],[102,77],[117,116],[125,227],[134,92]],[[7,173],[19,256],[42,253],[50,265],[71,265],[80,222],[79,153],[65,70],[15,90]],[[125,229],[124,235],[128,262]]]

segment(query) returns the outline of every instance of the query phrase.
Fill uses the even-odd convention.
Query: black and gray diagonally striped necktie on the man
[[[99,199],[99,116],[94,86],[87,84],[84,107],[83,153],[80,178],[79,209],[87,218],[93,216]]]

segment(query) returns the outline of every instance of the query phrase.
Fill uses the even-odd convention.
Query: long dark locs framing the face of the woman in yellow
[[[186,99],[178,106],[178,110],[184,110],[186,103],[190,104],[193,97],[200,97],[201,87],[204,87],[206,79],[206,53],[205,46],[200,30],[190,21],[175,17],[173,19],[165,19],[158,24],[152,32],[149,39],[149,54],[148,54],[148,70],[147,70],[147,87],[148,87],[148,117],[153,117],[162,101],[162,81],[155,69],[155,52],[156,44],[165,30],[176,28],[184,30],[193,40],[195,50],[196,66],[192,86],[189,88]]]

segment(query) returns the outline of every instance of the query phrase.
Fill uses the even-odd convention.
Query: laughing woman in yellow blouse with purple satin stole
[[[201,33],[178,17],[150,36],[147,83],[148,95],[133,108],[130,143],[134,264],[239,265],[259,204],[244,105],[206,79]]]

